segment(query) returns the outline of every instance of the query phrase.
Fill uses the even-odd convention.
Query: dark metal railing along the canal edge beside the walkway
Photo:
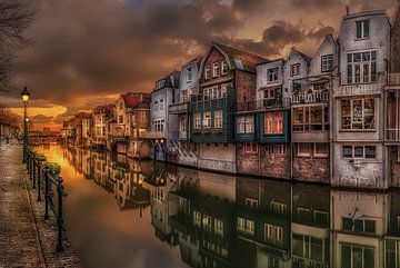
[[[59,171],[51,170],[49,163],[31,150],[28,151],[27,169],[32,188],[37,190],[38,201],[42,201],[44,198],[44,220],[50,219],[49,214],[51,212],[57,220],[56,251],[60,252],[63,250],[62,234],[64,231],[62,205],[63,198],[67,196],[63,180]]]

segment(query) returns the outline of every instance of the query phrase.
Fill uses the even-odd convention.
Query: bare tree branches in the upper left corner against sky
[[[10,89],[11,62],[17,52],[32,43],[23,36],[36,10],[29,0],[0,0],[0,91]]]

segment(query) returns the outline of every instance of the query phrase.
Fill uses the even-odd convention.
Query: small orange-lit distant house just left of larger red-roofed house
[[[92,112],[93,138],[91,146],[93,148],[106,148],[108,136],[110,133],[110,121],[113,119],[113,105],[98,106]]]

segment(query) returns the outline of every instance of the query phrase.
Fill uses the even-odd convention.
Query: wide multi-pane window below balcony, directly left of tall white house
[[[307,106],[293,109],[293,131],[329,130],[329,107]]]

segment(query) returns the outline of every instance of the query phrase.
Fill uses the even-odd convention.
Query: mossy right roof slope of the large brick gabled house
[[[227,58],[230,69],[256,72],[257,64],[268,62],[266,58],[226,44],[212,42],[211,50],[212,48],[218,49]]]

